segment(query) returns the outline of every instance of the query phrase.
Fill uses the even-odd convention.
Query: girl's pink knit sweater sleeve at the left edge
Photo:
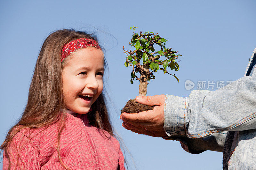
[[[17,156],[18,153],[19,156]],[[8,157],[11,162],[10,170],[40,170],[38,152],[32,146],[32,141],[21,132],[15,135],[8,153],[4,152],[3,156],[3,170],[9,167]]]

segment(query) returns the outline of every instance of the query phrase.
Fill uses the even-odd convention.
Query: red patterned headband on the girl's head
[[[73,53],[78,48],[86,48],[88,46],[93,46],[101,49],[97,41],[88,38],[79,38],[77,40],[70,41],[66,45],[64,45],[61,50],[61,61],[63,61],[68,55]]]

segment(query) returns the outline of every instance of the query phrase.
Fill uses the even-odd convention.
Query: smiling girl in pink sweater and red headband
[[[7,134],[3,169],[125,169],[105,105],[97,39],[50,34],[39,53],[20,121]]]

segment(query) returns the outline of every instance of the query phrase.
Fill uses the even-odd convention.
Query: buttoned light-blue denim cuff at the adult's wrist
[[[188,134],[188,97],[167,95],[164,104],[164,131],[168,137]],[[168,138],[167,137],[167,138]]]

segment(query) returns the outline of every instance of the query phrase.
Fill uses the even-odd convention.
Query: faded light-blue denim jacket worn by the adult
[[[166,95],[164,139],[180,141],[193,154],[224,150],[225,170],[256,169],[255,63],[256,48],[234,88],[193,90],[189,97]],[[235,88],[242,81],[243,87]]]

